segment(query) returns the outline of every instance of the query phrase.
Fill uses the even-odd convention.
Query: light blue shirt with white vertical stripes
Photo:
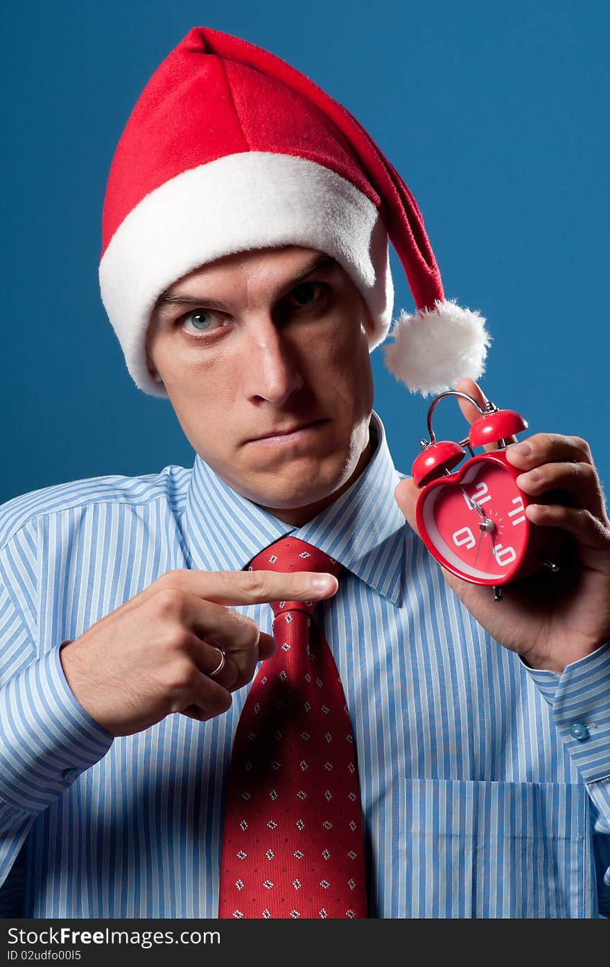
[[[557,675],[494,641],[405,524],[405,475],[372,422],[363,474],[300,528],[198,456],[0,508],[5,916],[217,916],[223,777],[248,687],[211,721],[174,714],[113,739],[74,698],[59,646],[165,571],[237,571],[286,534],[346,569],[320,607],[358,749],[370,915],[608,914],[610,644]],[[271,632],[268,604],[236,610]]]

